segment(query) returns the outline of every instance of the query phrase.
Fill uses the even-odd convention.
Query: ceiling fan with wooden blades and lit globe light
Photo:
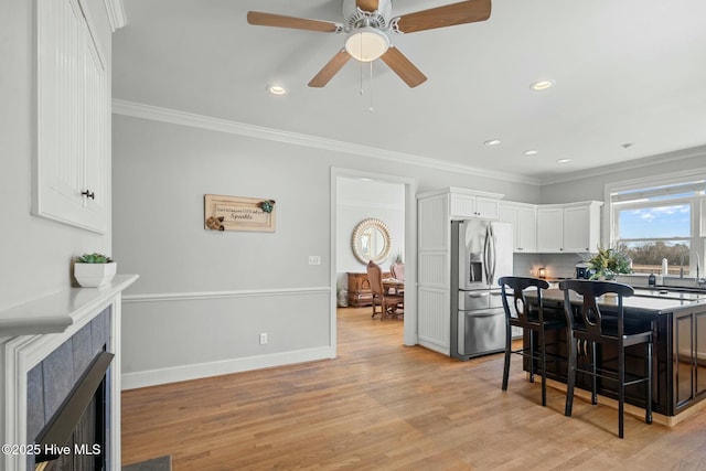
[[[392,0],[343,0],[344,23],[259,11],[248,11],[247,22],[259,26],[347,33],[345,46],[309,82],[310,87],[327,85],[351,57],[361,62],[372,62],[379,57],[407,85],[416,87],[427,77],[391,43],[391,34],[408,34],[485,21],[490,18],[490,2],[491,0],[468,0],[392,17]]]

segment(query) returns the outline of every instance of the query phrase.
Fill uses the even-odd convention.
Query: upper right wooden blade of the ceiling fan
[[[403,33],[474,23],[490,18],[491,0],[469,0],[399,17],[397,28]]]

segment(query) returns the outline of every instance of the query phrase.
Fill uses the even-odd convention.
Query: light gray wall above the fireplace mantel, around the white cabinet
[[[110,76],[110,25],[103,0],[87,0]],[[34,1],[0,2],[0,310],[71,286],[72,257],[110,253],[97,235],[32,216]],[[109,188],[108,188],[109,190]],[[108,208],[109,208],[108,202]],[[120,265],[118,265],[120,268]],[[122,271],[120,269],[120,271]]]

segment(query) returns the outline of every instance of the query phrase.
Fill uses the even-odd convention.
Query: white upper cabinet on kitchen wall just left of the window
[[[600,207],[588,201],[537,206],[537,251],[595,251],[600,243]]]

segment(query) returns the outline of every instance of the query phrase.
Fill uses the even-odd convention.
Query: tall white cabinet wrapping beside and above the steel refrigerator
[[[451,221],[496,220],[502,194],[448,188],[417,195],[418,343],[450,354]]]

